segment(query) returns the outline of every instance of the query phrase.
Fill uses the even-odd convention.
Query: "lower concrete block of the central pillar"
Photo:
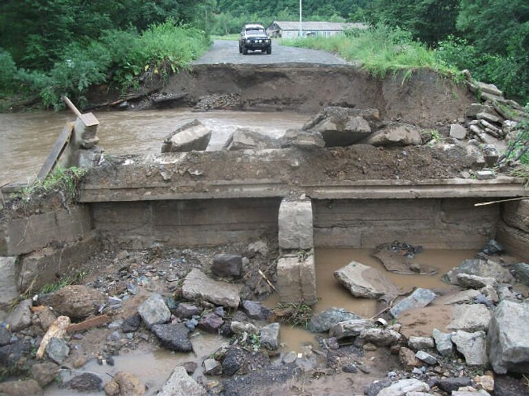
[[[314,255],[283,256],[278,261],[278,294],[281,303],[318,302]]]

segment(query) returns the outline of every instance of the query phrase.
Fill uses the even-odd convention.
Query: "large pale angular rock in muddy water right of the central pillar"
[[[334,277],[355,297],[391,301],[400,294],[398,287],[382,272],[355,261],[335,271]]]

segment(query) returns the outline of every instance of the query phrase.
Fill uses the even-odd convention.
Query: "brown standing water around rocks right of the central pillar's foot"
[[[320,301],[313,306],[313,312],[318,313],[330,307],[344,308],[346,311],[354,312],[364,318],[371,318],[380,311],[376,300],[368,298],[355,298],[335,280],[333,273],[344,265],[357,261],[365,265],[371,265],[383,272],[395,283],[403,292],[413,289],[413,287],[426,287],[438,292],[446,292],[451,288],[441,281],[441,276],[446,274],[453,267],[459,265],[465,259],[472,259],[477,253],[475,250],[426,250],[417,254],[417,263],[424,263],[437,267],[438,273],[433,276],[428,275],[402,275],[387,272],[384,266],[371,257],[373,250],[370,249],[316,249],[316,287]],[[273,294],[264,305],[275,307],[278,303],[278,296]],[[287,351],[301,351],[303,345],[316,345],[313,334],[303,329],[293,329],[288,326],[281,327],[281,342],[286,344]]]

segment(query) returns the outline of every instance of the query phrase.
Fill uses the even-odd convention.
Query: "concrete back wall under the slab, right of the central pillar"
[[[499,206],[475,199],[315,200],[317,248],[375,248],[401,242],[430,249],[480,249],[495,236]]]

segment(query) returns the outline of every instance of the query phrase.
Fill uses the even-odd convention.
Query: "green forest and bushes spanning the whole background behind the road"
[[[298,5],[298,0],[4,0],[0,103],[37,97],[46,107],[59,106],[61,94],[83,102],[92,85],[138,87],[146,77],[187,67],[207,50],[211,34],[233,34],[248,22],[297,20]],[[304,20],[363,21],[378,32],[386,29],[397,38],[393,52],[400,58],[420,46],[438,65],[470,69],[475,78],[529,102],[526,0],[304,0],[303,14]]]

